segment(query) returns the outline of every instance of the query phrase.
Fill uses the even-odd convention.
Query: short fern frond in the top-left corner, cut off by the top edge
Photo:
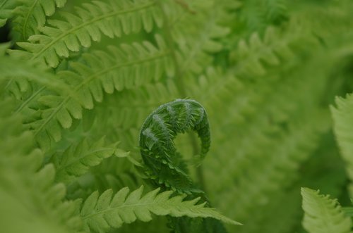
[[[18,0],[21,5],[13,12],[12,34],[16,40],[27,40],[32,34],[39,34],[38,28],[44,26],[47,17],[54,14],[56,7],[61,8],[66,0]]]

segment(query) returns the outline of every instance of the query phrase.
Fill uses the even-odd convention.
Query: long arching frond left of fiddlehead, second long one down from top
[[[92,109],[94,101],[101,102],[104,90],[107,93],[158,80],[162,75],[173,76],[174,67],[161,37],[156,36],[158,49],[149,42],[122,44],[121,48],[109,47],[110,53],[92,51],[83,53],[83,61],[71,62],[72,71],[64,70],[57,75],[71,86],[72,95],[39,94],[36,98],[41,106],[34,114],[40,118],[28,120],[27,124],[42,149],[46,150],[52,141],[61,139],[61,128],[69,128],[73,119],[81,119],[83,108]],[[30,99],[33,99],[30,96]],[[33,99],[34,100],[34,99]],[[30,106],[33,101],[26,101]],[[32,107],[33,108],[33,107]]]

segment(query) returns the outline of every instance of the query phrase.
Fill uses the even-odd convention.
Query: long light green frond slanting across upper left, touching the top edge
[[[61,12],[65,20],[48,20],[49,25],[40,28],[42,34],[32,35],[30,42],[18,43],[29,51],[31,59],[45,61],[56,67],[61,57],[67,58],[70,51],[80,51],[81,46],[90,47],[101,39],[101,34],[108,37],[120,37],[121,34],[139,32],[142,27],[150,32],[153,21],[162,24],[162,19],[155,1],[93,1],[76,8],[74,13]],[[12,53],[21,53],[13,51]]]

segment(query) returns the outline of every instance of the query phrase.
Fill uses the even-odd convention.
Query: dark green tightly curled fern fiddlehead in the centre
[[[200,158],[210,148],[205,108],[191,99],[164,103],[146,118],[140,130],[140,153],[152,180],[179,192],[193,193],[186,165],[174,145],[177,134],[193,130],[201,139]],[[159,186],[159,185],[158,185]]]

